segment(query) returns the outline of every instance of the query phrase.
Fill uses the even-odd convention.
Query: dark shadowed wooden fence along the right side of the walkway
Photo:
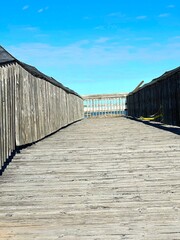
[[[162,113],[162,122],[180,126],[180,67],[166,72],[127,96],[128,115]]]

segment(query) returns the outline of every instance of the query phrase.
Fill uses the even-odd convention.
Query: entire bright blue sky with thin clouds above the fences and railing
[[[179,0],[2,1],[0,22],[4,48],[82,95],[180,66]]]

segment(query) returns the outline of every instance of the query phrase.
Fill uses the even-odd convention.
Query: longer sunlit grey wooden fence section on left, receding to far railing
[[[18,123],[16,144],[18,146],[37,141],[83,118],[83,100],[80,97],[66,93],[63,89],[32,76],[19,65],[17,68],[19,87],[16,88],[16,122]],[[70,109],[67,108],[65,96],[69,101]]]

